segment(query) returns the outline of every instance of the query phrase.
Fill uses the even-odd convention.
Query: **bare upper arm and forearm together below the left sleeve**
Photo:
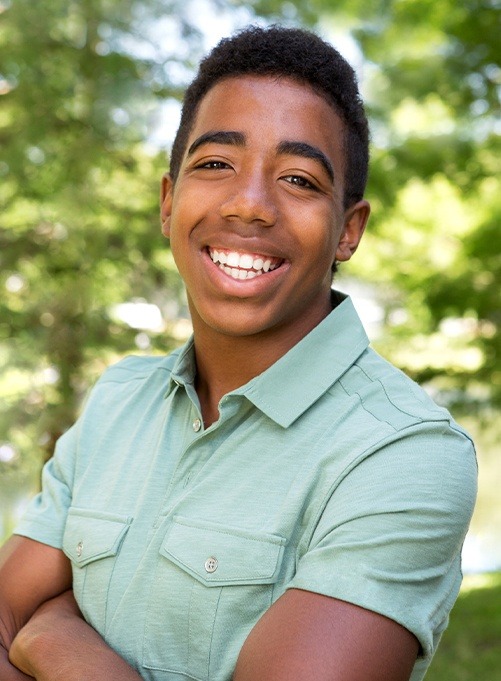
[[[0,549],[2,681],[140,681],[82,618],[62,551],[24,537]]]

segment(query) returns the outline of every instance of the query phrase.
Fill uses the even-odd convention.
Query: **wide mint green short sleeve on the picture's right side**
[[[332,492],[289,588],[399,622],[429,662],[459,592],[476,479],[471,441],[443,424],[381,447]]]

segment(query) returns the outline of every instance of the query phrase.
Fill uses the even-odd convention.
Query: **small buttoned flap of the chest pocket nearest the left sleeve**
[[[63,537],[63,551],[78,567],[114,556],[132,519],[116,513],[70,508]]]

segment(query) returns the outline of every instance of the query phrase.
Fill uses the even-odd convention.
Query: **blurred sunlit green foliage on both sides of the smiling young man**
[[[187,316],[152,144],[204,51],[195,0],[0,0],[0,497],[28,485],[105,365]],[[373,130],[373,218],[348,271],[383,354],[440,399],[501,403],[498,0],[206,0],[350,36]],[[348,55],[350,56],[350,55]],[[133,328],[115,306],[154,304]]]

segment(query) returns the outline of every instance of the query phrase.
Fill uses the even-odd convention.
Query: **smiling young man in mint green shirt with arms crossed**
[[[161,201],[194,335],[109,369],[61,438],[3,549],[2,680],[423,678],[476,467],[331,290],[367,160],[316,36],[250,28],[201,64]]]

